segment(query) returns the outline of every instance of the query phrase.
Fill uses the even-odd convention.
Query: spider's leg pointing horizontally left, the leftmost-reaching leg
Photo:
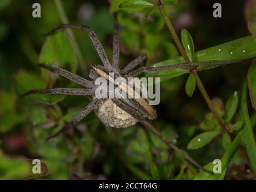
[[[54,89],[32,89],[27,93],[23,94],[55,94],[55,95],[93,95],[95,94],[94,89],[72,89],[72,88],[54,88]]]

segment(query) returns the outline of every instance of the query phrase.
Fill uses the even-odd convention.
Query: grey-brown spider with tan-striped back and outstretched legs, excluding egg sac
[[[62,68],[55,68],[51,67],[49,65],[45,64],[39,64],[39,67],[45,68],[46,70],[51,71],[52,73],[58,74],[60,76],[66,77],[69,80],[72,80],[72,82],[75,82],[79,85],[82,85],[86,88],[52,88],[52,89],[33,89],[31,91],[28,91],[27,93],[23,95],[30,95],[30,94],[60,94],[60,95],[88,95],[92,96],[92,101],[83,109],[81,112],[78,113],[78,115],[75,116],[75,118],[72,119],[71,122],[64,125],[64,127],[58,131],[57,133],[53,134],[52,136],[49,136],[48,139],[51,139],[52,137],[56,137],[59,134],[63,133],[69,128],[72,128],[78,122],[81,121],[85,116],[87,116],[90,112],[92,112],[93,109],[96,109],[96,107],[104,101],[102,98],[95,98],[95,90],[98,87],[96,85],[95,80],[98,77],[104,77],[108,81],[110,81],[110,78],[108,76],[109,73],[114,73],[114,77],[124,77],[127,79],[128,77],[135,77],[139,74],[145,72],[145,71],[160,71],[160,70],[167,70],[170,68],[188,68],[191,66],[199,66],[199,65],[225,65],[225,64],[232,64],[239,61],[223,61],[223,62],[193,62],[193,63],[183,63],[183,64],[176,64],[176,65],[164,65],[160,67],[140,67],[136,68],[140,63],[146,60],[147,56],[145,54],[140,55],[138,58],[131,61],[128,65],[126,65],[122,70],[119,68],[119,26],[117,24],[117,20],[114,17],[114,35],[113,35],[113,61],[112,64],[107,58],[107,54],[105,53],[105,50],[102,47],[102,44],[99,42],[98,38],[96,37],[95,32],[92,28],[90,28],[87,25],[84,26],[77,26],[77,25],[71,25],[71,24],[63,24],[58,26],[55,29],[52,29],[48,34],[46,35],[52,35],[55,32],[57,32],[60,29],[79,29],[81,31],[88,32],[90,39],[92,40],[93,46],[96,49],[96,52],[98,53],[99,57],[101,58],[101,61],[103,63],[102,65],[95,65],[92,67],[92,70],[90,71],[90,79],[87,80],[83,77],[80,77],[76,74],[70,73],[69,71],[66,71]],[[113,79],[112,79],[113,80]],[[117,86],[117,85],[115,85]],[[181,155],[183,155],[191,164],[193,164],[196,167],[199,167],[199,169],[205,170],[202,166],[200,166],[196,161],[194,161],[189,155],[184,153],[181,149],[177,148],[172,142],[170,142],[168,139],[163,137],[159,131],[157,131],[154,127],[152,127],[151,124],[149,124],[146,121],[147,119],[155,119],[157,118],[157,113],[155,112],[155,109],[149,105],[148,98],[139,98],[139,99],[133,99],[133,98],[111,98],[111,101],[116,104],[117,107],[119,107],[124,112],[131,115],[133,118],[137,119],[141,124],[143,124],[145,127],[149,128],[154,134],[156,134],[161,140],[163,140],[164,143],[166,143],[167,146],[174,149],[175,151],[179,152]],[[207,171],[207,170],[205,170]]]

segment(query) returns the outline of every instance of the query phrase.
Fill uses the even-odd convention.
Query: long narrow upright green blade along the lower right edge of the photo
[[[256,143],[254,132],[252,131],[252,125],[248,114],[247,107],[247,83],[245,82],[242,88],[242,102],[241,110],[243,119],[245,120],[245,128],[243,129],[243,143],[251,163],[254,175],[256,175]]]

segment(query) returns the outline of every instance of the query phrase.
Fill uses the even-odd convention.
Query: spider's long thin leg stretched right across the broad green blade
[[[214,66],[214,65],[228,65],[228,64],[235,64],[241,62],[240,60],[234,60],[234,61],[216,61],[216,62],[188,62],[183,64],[175,64],[175,65],[163,65],[158,67],[140,67],[136,70],[131,71],[128,76],[129,77],[135,77],[143,72],[154,72],[154,71],[162,71],[162,70],[169,70],[171,68],[186,68],[186,67],[198,67],[198,66]]]

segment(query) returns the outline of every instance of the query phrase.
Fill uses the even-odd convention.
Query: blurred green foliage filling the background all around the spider
[[[73,31],[84,61],[78,59],[78,52],[66,32],[44,37],[42,34],[62,21],[55,1],[38,2],[42,7],[42,18],[31,16],[33,1],[0,1],[0,179],[234,179],[230,165],[239,167],[241,164],[245,164],[249,171],[246,170],[239,179],[253,178],[246,149],[242,147],[237,152],[244,134],[244,130],[240,130],[246,125],[245,133],[253,140],[253,133],[248,131],[256,124],[251,104],[249,109],[242,107],[243,113],[239,104],[240,89],[249,67],[247,61],[225,68],[197,68],[202,71],[200,76],[213,97],[218,115],[229,127],[225,131],[207,109],[189,70],[176,68],[156,74],[163,80],[161,103],[156,106],[158,119],[151,123],[200,164],[207,164],[207,169],[212,169],[214,159],[221,159],[221,175],[199,172],[140,124],[116,130],[105,127],[95,113],[90,113],[68,133],[46,141],[49,134],[56,133],[87,106],[89,98],[61,95],[21,98],[20,94],[34,88],[80,88],[62,77],[40,70],[36,64],[47,63],[88,77],[90,66],[101,64],[101,61],[85,32]],[[245,4],[241,0],[235,7],[229,7],[233,1],[225,1],[223,20],[215,20],[211,12],[213,1],[163,2],[175,28],[178,31],[189,29],[181,31],[181,39],[192,61],[256,56],[255,38],[248,36],[246,28],[247,22],[255,17],[256,4],[248,6],[249,1]],[[130,9],[134,6],[135,10]],[[178,57],[178,50],[161,14],[154,7],[154,1],[63,1],[63,7],[70,23],[89,25],[95,30],[110,60],[111,14],[118,13],[120,68],[140,53],[148,54],[148,65],[184,62]],[[208,12],[201,11],[203,8]],[[239,9],[236,16],[233,8]],[[229,17],[236,20],[236,25],[227,29]],[[249,29],[250,26],[252,29],[254,23]],[[248,73],[254,107],[255,64],[254,61]],[[145,75],[152,76],[152,73]],[[245,95],[243,101],[246,102]],[[251,125],[247,110],[252,114]],[[31,160],[35,158],[43,162],[41,175],[31,173]]]

